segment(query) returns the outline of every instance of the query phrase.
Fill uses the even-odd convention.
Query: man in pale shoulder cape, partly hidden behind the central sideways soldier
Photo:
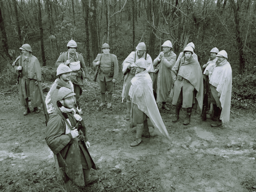
[[[131,68],[131,65],[134,64],[138,59],[144,58],[146,60],[146,71],[150,75],[151,80],[153,80],[154,67],[153,62],[149,54],[146,54],[146,45],[144,42],[141,42],[137,45],[136,51],[132,51],[128,57],[123,61],[123,92],[122,98],[126,97],[127,113],[125,116],[126,120],[130,119],[131,114],[131,100],[129,96],[129,90],[131,87],[131,79],[135,75],[135,69]]]

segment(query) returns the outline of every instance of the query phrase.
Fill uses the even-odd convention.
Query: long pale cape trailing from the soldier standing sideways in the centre
[[[170,139],[154,99],[152,80],[146,70],[137,73],[131,80],[129,96],[132,102],[138,106],[139,110],[149,117],[156,133]]]

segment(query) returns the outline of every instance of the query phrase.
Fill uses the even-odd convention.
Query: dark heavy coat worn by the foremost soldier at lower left
[[[88,168],[96,169],[96,166],[84,143],[85,141],[88,141],[84,121],[77,121],[71,112],[66,113],[66,116],[71,123],[71,127],[75,127],[77,122],[79,122],[77,129],[80,129],[79,134],[82,132],[84,135],[83,141],[77,137],[73,139],[71,133],[66,134],[66,130],[70,130],[70,128],[58,113],[61,113],[59,108],[57,109],[57,112],[55,111],[50,116],[47,123],[45,136],[46,143],[52,152],[57,156],[60,168],[60,177],[63,179],[63,181],[67,181],[69,178],[74,184],[83,187],[84,176],[80,150],[84,154]]]

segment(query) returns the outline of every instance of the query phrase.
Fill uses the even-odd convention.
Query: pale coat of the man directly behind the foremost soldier
[[[72,92],[74,92],[74,85],[71,81],[65,82],[61,80],[60,78],[56,79],[53,84],[51,85],[51,88],[49,92],[47,93],[47,96],[45,98],[45,104],[47,108],[47,112],[53,113],[55,109],[57,108],[57,94],[59,92],[59,88],[61,87],[67,87],[69,88]],[[74,97],[74,102],[76,103],[76,98]]]

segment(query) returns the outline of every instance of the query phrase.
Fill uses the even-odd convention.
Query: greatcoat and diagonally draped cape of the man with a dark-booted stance
[[[203,74],[199,62],[192,56],[189,60],[182,57],[179,71],[179,63],[172,68],[172,78],[177,79],[174,83],[174,96],[172,104],[176,105],[182,88],[182,107],[191,108],[197,99],[199,109],[203,107]]]

